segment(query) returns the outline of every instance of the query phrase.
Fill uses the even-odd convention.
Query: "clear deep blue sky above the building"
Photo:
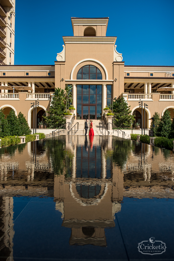
[[[174,1],[16,0],[15,64],[54,64],[72,17],[108,17],[126,65],[174,65]]]

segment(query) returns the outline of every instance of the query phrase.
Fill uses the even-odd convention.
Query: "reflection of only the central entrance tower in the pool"
[[[117,185],[118,180],[123,184],[123,177],[118,168],[106,164],[104,150],[108,142],[104,138],[97,137],[93,144],[89,137],[75,140],[74,136],[70,143],[68,139],[69,148],[72,144],[74,150],[72,176],[55,177],[54,183],[62,226],[71,228],[70,245],[106,246],[104,229],[115,226],[114,215],[121,210],[123,189]]]

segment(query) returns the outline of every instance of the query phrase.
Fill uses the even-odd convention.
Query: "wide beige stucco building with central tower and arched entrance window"
[[[143,115],[146,103],[146,128],[150,127],[150,118],[155,111],[161,116],[168,109],[173,118],[174,91],[159,88],[174,88],[174,66],[125,65],[124,54],[117,52],[117,37],[106,36],[108,20],[109,17],[71,17],[74,35],[63,37],[63,50],[60,47],[61,52],[57,57],[55,55],[54,65],[1,65],[1,86],[30,88],[28,91],[15,91],[15,94],[1,90],[0,108],[4,109],[4,113],[7,114],[11,108],[16,114],[21,111],[33,128],[31,102],[39,100],[39,122],[43,120],[45,111],[49,110],[50,93],[55,88],[65,88],[69,84],[73,86],[77,120],[88,118],[89,115],[90,118],[101,119],[106,103],[110,104],[115,97],[127,100],[135,121],[140,125],[141,108],[138,102],[143,101]]]

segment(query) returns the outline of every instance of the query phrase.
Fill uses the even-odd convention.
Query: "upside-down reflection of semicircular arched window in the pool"
[[[81,198],[94,198],[96,197],[100,191],[100,185],[76,185],[77,193]]]

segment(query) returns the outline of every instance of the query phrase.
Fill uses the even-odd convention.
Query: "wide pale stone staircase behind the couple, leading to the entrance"
[[[76,123],[79,123],[79,127],[77,129],[77,124]],[[103,133],[102,133],[102,126],[101,128],[99,129],[99,123],[102,123],[103,124]],[[73,128],[72,131],[70,132],[70,135],[85,135],[85,120],[74,120],[74,123],[73,123],[73,126],[76,124],[76,129]],[[89,122],[88,122],[88,126],[89,126]],[[106,129],[106,131],[105,131]],[[93,130],[94,130],[94,135],[108,135],[108,131],[107,131],[107,126],[106,124],[104,124],[104,120],[93,120]],[[55,136],[58,136],[58,135],[67,135],[68,134],[68,129],[59,129],[59,131],[55,131]],[[89,134],[89,128],[88,128],[88,132],[87,132],[87,135]],[[119,134],[119,135],[118,135]],[[114,133],[113,133],[113,130],[109,130],[109,135],[114,135],[114,136],[117,136],[117,137],[120,137],[122,138],[122,132],[119,131],[118,133],[118,130],[114,130]],[[126,134],[125,133],[125,138],[130,138],[129,137],[130,135]],[[52,133],[49,133],[49,134],[46,134],[46,138],[50,138],[52,137]]]

